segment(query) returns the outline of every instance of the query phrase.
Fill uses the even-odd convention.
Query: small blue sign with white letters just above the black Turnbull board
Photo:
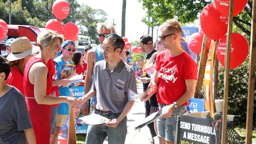
[[[188,101],[187,110],[189,113],[204,111],[204,99],[191,98]]]

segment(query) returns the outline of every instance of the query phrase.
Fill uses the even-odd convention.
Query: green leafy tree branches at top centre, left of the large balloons
[[[182,24],[194,22],[202,9],[211,2],[199,0],[138,0],[143,2],[142,8],[147,9],[146,16],[142,19],[150,27],[160,26],[171,18],[177,18]],[[152,18],[152,22],[148,21]]]

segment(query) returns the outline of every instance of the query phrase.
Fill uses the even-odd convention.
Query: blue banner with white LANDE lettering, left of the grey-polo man
[[[73,97],[80,98],[84,96],[84,85],[79,85],[78,87],[71,87],[70,89],[73,90]],[[82,113],[82,106],[80,107],[80,109],[74,109],[75,121],[76,119],[83,116],[85,115],[83,115]],[[75,125],[76,125],[76,135],[86,134],[88,126],[82,126],[82,124],[77,124],[77,123],[75,123]]]

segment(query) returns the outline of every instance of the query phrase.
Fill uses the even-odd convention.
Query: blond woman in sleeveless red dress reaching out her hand
[[[40,52],[28,61],[24,71],[25,100],[37,144],[50,143],[52,104],[69,103],[73,107],[79,107],[79,102],[76,98],[67,96],[55,97],[55,93],[50,93],[52,79],[47,68],[47,62],[49,59],[57,57],[62,42],[63,37],[55,31],[45,30],[40,33],[37,36]]]

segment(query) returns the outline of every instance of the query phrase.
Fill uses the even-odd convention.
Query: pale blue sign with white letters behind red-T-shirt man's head
[[[187,54],[189,54],[195,62],[197,62],[197,54],[193,53],[188,45],[188,41],[189,41],[189,37],[190,35],[192,35],[193,33],[197,33],[198,32],[198,28],[197,27],[186,27],[186,26],[182,26],[182,38],[185,39],[185,42],[180,42],[180,44],[185,48]]]

